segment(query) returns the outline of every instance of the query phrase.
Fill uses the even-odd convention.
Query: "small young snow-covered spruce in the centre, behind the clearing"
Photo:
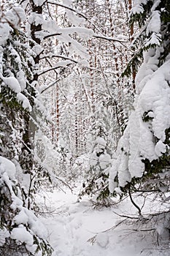
[[[109,113],[104,102],[98,102],[93,116],[93,124],[88,135],[90,151],[85,155],[87,164],[82,184],[81,195],[96,196],[98,202],[107,205],[109,202],[109,172],[112,151],[109,149],[109,132],[111,124]]]

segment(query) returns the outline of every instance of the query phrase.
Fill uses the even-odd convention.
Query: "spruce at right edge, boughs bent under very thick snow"
[[[130,23],[137,23],[136,53],[142,61],[136,75],[134,110],[120,138],[110,169],[110,192],[169,192],[170,4],[136,1]],[[128,66],[128,67],[131,67]],[[128,69],[129,70],[129,69]],[[139,209],[139,214],[141,211]]]

